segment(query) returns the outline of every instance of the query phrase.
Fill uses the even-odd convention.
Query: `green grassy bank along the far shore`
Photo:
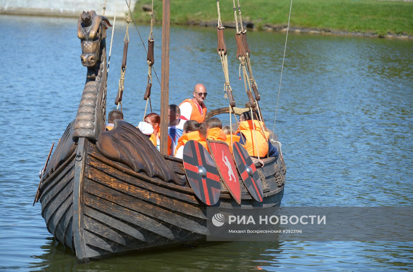
[[[138,0],[135,4],[135,19],[150,21],[151,0]],[[236,1],[235,1],[236,3]],[[282,28],[287,25],[290,0],[241,0],[244,23],[254,28]],[[224,24],[235,25],[233,3],[221,0],[221,19]],[[154,1],[155,20],[160,23],[162,1]],[[216,24],[216,1],[173,0],[171,1],[171,24]],[[379,0],[293,0],[290,26],[295,28],[320,29],[373,33],[384,36],[413,35],[413,2]]]

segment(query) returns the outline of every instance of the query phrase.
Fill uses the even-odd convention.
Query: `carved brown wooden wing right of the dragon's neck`
[[[185,184],[185,176],[178,177],[166,163],[152,142],[133,125],[114,121],[114,128],[102,131],[96,147],[105,157],[126,164],[135,172],[143,172],[149,177],[159,177],[165,182]]]

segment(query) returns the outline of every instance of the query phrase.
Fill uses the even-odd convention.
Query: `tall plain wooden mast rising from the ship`
[[[162,61],[161,61],[161,154],[168,154],[169,109],[169,10],[170,0],[162,0]]]

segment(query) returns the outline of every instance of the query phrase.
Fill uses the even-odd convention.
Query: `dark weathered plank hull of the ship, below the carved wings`
[[[71,142],[67,136],[70,133],[66,147]],[[40,202],[47,229],[76,252],[79,263],[206,242],[207,206],[187,182],[182,186],[135,172],[102,155],[86,138],[71,142],[71,152],[62,160],[62,153],[67,153],[61,151],[64,145],[65,141],[60,142],[52,156],[40,187]],[[60,165],[55,164],[57,157]],[[262,202],[252,199],[242,186],[241,205],[230,194],[221,193],[214,206],[279,206],[285,168],[280,158],[264,161],[265,166],[258,170],[266,180]],[[164,163],[177,175],[184,175],[181,159],[164,156]],[[53,168],[56,170],[49,173]]]

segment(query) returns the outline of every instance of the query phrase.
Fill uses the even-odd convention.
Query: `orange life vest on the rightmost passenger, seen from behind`
[[[254,121],[255,124],[257,142],[255,142],[254,127],[252,121]],[[237,132],[241,132],[242,135],[244,135],[246,140],[244,147],[247,150],[249,156],[257,157],[259,155],[259,157],[262,158],[268,153],[268,138],[270,137],[270,133],[262,131],[260,123],[264,128],[264,123],[258,120],[242,121],[240,123],[240,130],[238,130]],[[257,146],[259,154],[257,154]]]

